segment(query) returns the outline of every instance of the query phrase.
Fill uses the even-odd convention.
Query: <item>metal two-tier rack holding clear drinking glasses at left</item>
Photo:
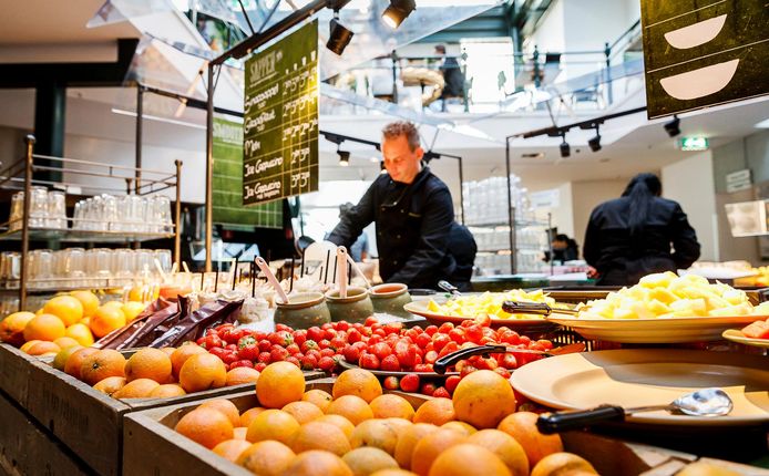
[[[140,167],[123,167],[116,165],[101,164],[92,161],[76,158],[53,157],[48,155],[34,154],[33,135],[24,138],[27,152],[24,157],[10,164],[0,170],[0,188],[11,192],[23,192],[23,215],[20,229],[16,228],[17,220],[0,224],[0,240],[21,241],[21,263],[19,269],[19,310],[24,310],[27,306],[28,281],[29,281],[29,251],[31,240],[51,240],[60,242],[104,242],[104,244],[130,244],[136,246],[142,241],[174,238],[173,260],[180,265],[181,260],[181,229],[180,219],[182,215],[182,161],[175,161],[176,170],[173,174],[164,170],[153,170]],[[57,163],[60,167],[43,165],[43,163]],[[69,166],[69,167],[68,167]],[[35,172],[61,172],[66,175],[78,175],[93,177],[94,179],[111,179],[123,182],[125,189],[119,192],[116,188],[101,185],[84,185],[62,180],[44,180],[33,177]],[[141,182],[140,182],[141,179]],[[106,231],[106,230],[80,230],[73,229],[74,218],[66,218],[66,229],[45,229],[30,227],[31,189],[32,186],[44,186],[48,188],[64,192],[68,195],[74,190],[86,189],[91,193],[111,193],[145,196],[157,194],[163,190],[174,189],[176,200],[174,204],[174,219],[172,232],[133,232],[133,231]],[[80,194],[80,192],[78,192]],[[6,290],[17,290],[17,286],[3,286]]]

